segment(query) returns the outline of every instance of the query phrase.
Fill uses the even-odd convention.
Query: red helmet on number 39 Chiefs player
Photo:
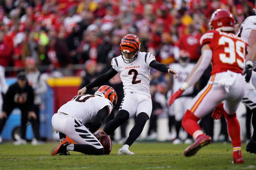
[[[234,31],[235,23],[234,16],[229,10],[217,9],[212,14],[209,27],[217,31]]]

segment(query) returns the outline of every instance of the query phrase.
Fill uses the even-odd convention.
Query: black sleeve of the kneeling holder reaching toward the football
[[[90,124],[90,127],[87,127],[87,128],[89,128],[89,131],[91,133],[96,132],[101,127],[101,124],[102,124],[103,120],[105,119],[105,117],[108,116],[109,109],[107,107],[108,106],[105,106],[104,108],[99,110],[98,113],[96,114],[96,116],[94,117],[92,123]]]

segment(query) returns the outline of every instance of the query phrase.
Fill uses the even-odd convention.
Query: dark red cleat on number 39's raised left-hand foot
[[[204,135],[199,137],[192,145],[185,149],[184,155],[185,156],[193,156],[197,153],[199,149],[203,146],[206,146],[212,142],[212,137],[208,135]]]

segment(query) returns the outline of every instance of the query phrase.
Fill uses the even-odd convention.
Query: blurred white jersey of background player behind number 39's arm
[[[177,72],[177,80],[173,81],[173,88],[172,90],[175,92],[177,91],[181,85],[185,82],[185,80],[188,78],[190,72],[195,67],[195,64],[188,63],[185,67],[181,66],[179,63],[173,63],[170,64],[170,68],[174,69]],[[182,96],[184,95],[190,95],[194,91],[194,86],[190,86],[188,89],[186,89]]]

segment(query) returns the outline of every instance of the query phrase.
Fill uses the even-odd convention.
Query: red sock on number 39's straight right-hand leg
[[[241,148],[240,125],[236,118],[236,114],[228,115],[224,111],[224,116],[228,122],[228,131],[229,131],[229,136],[232,140],[233,148],[237,148],[237,147]]]

